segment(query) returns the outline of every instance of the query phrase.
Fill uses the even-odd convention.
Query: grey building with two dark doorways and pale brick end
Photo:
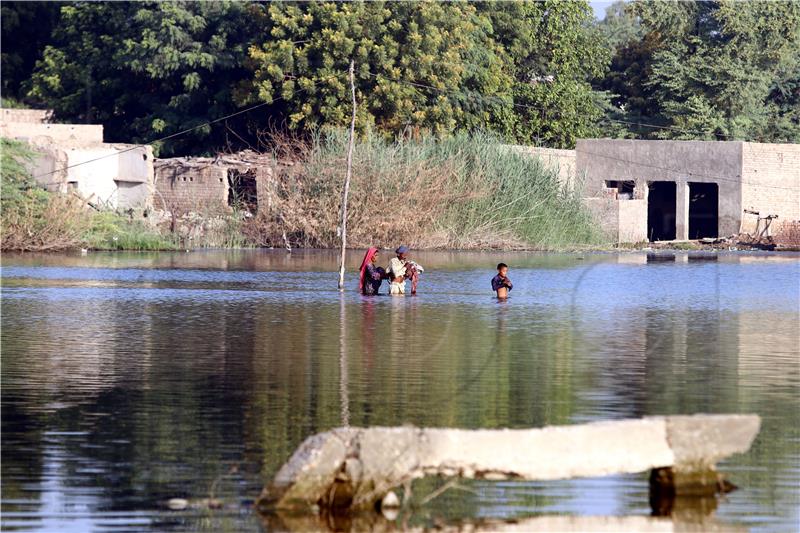
[[[587,206],[616,242],[771,234],[800,220],[800,145],[586,139]],[[770,218],[771,217],[771,218]]]

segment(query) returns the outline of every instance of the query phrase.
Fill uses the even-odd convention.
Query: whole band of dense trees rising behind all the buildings
[[[790,0],[618,2],[601,22],[585,0],[3,2],[2,15],[4,105],[102,122],[112,141],[191,129],[156,143],[162,155],[345,124],[351,59],[358,127],[389,137],[800,140]]]

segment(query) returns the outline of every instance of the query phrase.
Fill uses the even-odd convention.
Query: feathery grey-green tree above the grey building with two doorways
[[[800,137],[800,4],[634,2],[643,37],[617,49],[603,88],[624,114],[667,128],[653,138]]]

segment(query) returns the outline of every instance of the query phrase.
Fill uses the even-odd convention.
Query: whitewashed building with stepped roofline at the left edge
[[[152,207],[153,151],[103,142],[99,124],[50,124],[49,111],[3,109],[0,135],[26,142],[38,154],[36,181],[51,191],[74,191],[97,207]]]

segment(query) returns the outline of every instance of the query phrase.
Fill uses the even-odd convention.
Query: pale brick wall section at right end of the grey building
[[[773,234],[784,222],[800,220],[800,145],[743,143],[742,209],[778,215]],[[744,214],[742,230],[752,233],[756,221]]]

